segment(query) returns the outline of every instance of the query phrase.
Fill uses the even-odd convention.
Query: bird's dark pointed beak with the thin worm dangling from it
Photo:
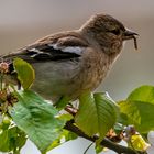
[[[134,40],[134,47],[135,50],[138,50],[138,42],[136,42],[136,36],[139,34],[133,32],[133,31],[130,31],[130,30],[125,30],[124,33],[123,33],[123,41],[125,40]]]

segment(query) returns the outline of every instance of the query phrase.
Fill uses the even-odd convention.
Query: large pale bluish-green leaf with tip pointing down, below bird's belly
[[[16,95],[19,102],[10,111],[13,121],[45,153],[58,139],[65,121],[57,119],[57,110],[35,92],[24,90]]]

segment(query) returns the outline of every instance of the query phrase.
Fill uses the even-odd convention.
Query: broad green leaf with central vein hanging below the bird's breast
[[[75,117],[77,125],[88,135],[99,134],[101,141],[113,128],[118,117],[118,106],[108,94],[82,94],[79,111]]]

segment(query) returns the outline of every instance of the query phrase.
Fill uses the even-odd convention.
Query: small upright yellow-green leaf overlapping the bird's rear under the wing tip
[[[33,67],[21,58],[15,58],[13,61],[13,67],[18,73],[18,79],[20,80],[22,87],[28,89],[35,79]]]

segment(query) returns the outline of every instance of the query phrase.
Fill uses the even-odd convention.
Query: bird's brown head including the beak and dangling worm
[[[124,25],[108,14],[96,14],[81,28],[82,32],[96,40],[107,54],[118,53],[122,43],[127,40],[134,40],[134,47],[138,48],[136,33],[124,28]]]

